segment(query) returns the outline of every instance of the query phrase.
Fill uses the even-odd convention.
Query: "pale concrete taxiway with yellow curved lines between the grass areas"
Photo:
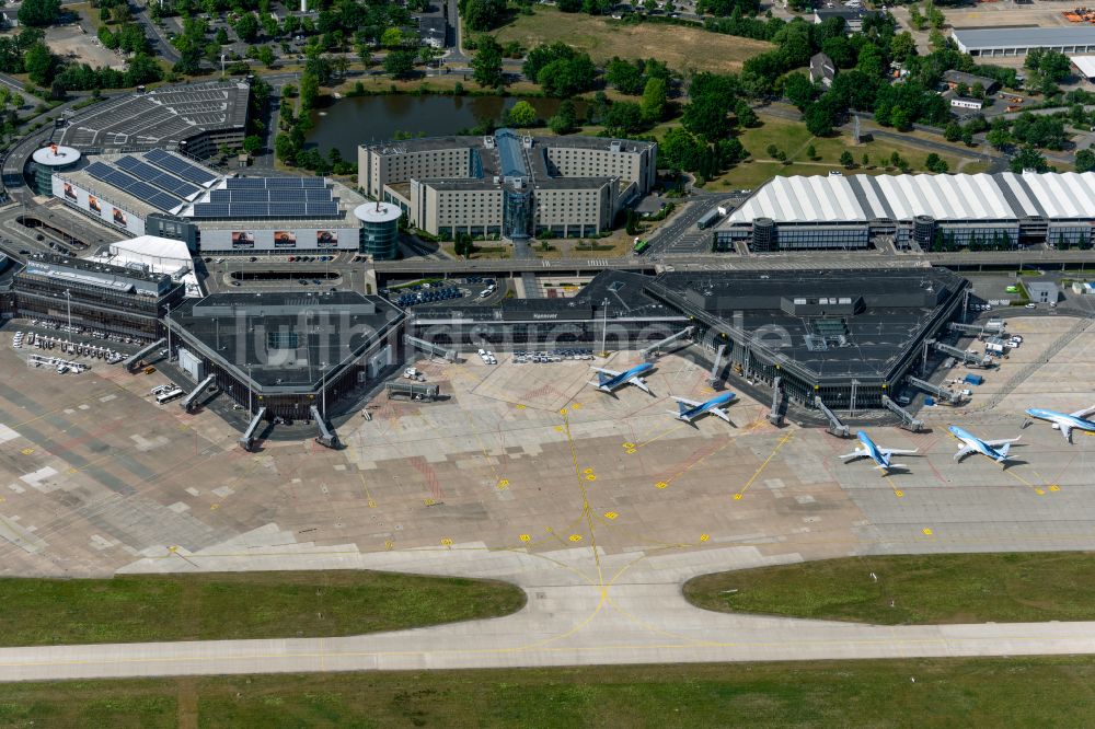
[[[742,547],[714,547],[688,559],[657,549],[593,558],[589,548],[525,554],[473,547],[337,559],[342,568],[498,576],[519,583],[528,603],[508,617],[368,636],[4,648],[0,681],[1095,653],[1095,623],[876,627],[689,605],[682,580],[765,563],[759,551]],[[223,558],[188,555],[192,560],[201,569],[224,566]]]

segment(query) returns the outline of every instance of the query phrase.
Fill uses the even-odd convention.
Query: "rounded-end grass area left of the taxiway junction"
[[[356,635],[506,615],[504,582],[364,570],[0,580],[0,645]],[[0,721],[0,727],[3,722]]]

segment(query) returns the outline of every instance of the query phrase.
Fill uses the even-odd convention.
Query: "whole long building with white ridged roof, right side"
[[[714,229],[715,250],[758,253],[970,242],[1087,241],[1095,173],[775,177]]]

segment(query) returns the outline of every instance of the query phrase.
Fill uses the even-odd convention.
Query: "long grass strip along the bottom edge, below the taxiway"
[[[81,681],[0,685],[0,727],[1082,727],[1093,683],[1086,657]]]

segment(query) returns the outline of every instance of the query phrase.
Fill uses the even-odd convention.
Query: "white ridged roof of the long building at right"
[[[876,219],[1017,220],[1095,217],[1095,173],[775,177],[723,225],[865,222]]]

